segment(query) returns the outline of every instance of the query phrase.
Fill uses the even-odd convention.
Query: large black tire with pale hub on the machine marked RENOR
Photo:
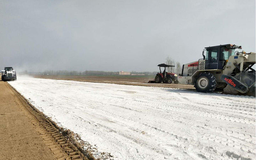
[[[194,87],[197,92],[212,92],[216,88],[216,78],[210,72],[204,72],[197,76]]]

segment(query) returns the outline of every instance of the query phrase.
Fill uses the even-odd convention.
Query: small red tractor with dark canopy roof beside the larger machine
[[[168,73],[165,71],[166,67],[175,67],[175,66],[172,66],[172,65],[167,65],[167,64],[159,64],[157,65],[160,69],[160,73],[157,73],[156,74],[156,77],[155,77],[155,80],[154,81],[149,81],[148,83],[168,83],[168,84],[171,84],[172,81],[175,82],[175,77],[177,75],[175,75],[174,73]],[[163,73],[161,72],[161,67],[164,67],[164,71]]]

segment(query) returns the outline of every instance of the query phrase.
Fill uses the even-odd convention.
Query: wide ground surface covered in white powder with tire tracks
[[[255,97],[20,76],[9,83],[116,160],[255,159]]]

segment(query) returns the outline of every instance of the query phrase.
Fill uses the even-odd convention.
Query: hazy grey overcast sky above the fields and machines
[[[156,71],[204,47],[255,52],[255,0],[0,1],[0,67]]]

